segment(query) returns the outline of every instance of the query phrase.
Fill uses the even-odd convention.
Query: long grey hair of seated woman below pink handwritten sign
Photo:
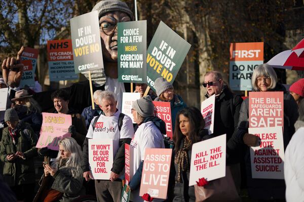
[[[82,175],[82,150],[77,141],[72,137],[65,137],[59,141],[58,145],[63,146],[64,150],[71,153],[71,156],[65,163],[65,167],[71,168],[72,177],[76,178],[79,175]],[[59,151],[55,162],[52,164],[52,167],[58,167],[58,165],[61,163],[61,160],[62,158]]]

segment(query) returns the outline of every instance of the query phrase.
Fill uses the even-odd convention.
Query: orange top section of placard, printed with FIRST
[[[263,56],[263,42],[230,44],[230,61],[263,61]]]

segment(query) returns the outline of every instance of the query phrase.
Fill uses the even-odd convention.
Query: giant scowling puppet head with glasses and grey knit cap
[[[98,11],[102,55],[105,62],[105,71],[91,71],[92,81],[98,87],[106,81],[106,62],[117,62],[117,23],[132,21],[134,16],[127,4],[119,0],[100,1],[92,11]],[[83,74],[88,78],[88,73]]]

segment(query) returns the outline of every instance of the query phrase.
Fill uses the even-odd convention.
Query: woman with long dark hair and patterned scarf
[[[194,186],[189,186],[192,145],[212,136],[204,130],[205,121],[200,110],[195,107],[179,111],[176,123],[179,124],[175,125],[173,134],[176,172],[173,201],[195,201]]]

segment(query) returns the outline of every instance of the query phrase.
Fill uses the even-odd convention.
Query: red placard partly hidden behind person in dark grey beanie
[[[170,102],[153,101],[154,104],[154,116],[160,118],[166,123],[166,135],[173,138],[172,118],[171,118],[171,106]]]

